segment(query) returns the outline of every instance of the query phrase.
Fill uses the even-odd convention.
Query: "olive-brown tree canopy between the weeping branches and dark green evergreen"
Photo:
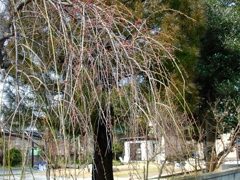
[[[180,69],[164,62],[173,81],[171,86],[181,94],[175,98],[178,103],[187,104],[188,108],[184,110],[195,111],[199,102],[196,65],[200,57],[200,40],[206,30],[205,4],[201,0],[122,2],[132,9],[139,21],[146,21],[150,35],[169,45],[167,50],[176,58],[175,63]],[[182,105],[180,109],[184,107]]]

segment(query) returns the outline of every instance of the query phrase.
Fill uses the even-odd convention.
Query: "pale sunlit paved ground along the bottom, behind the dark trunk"
[[[144,172],[146,169],[146,163],[132,163],[127,165],[114,167],[114,179],[115,180],[138,180],[144,179]],[[189,167],[185,166],[185,170],[189,170]],[[160,171],[160,165],[150,163],[149,164],[149,179],[157,179]],[[173,167],[167,165],[163,169],[162,175],[171,175],[173,173],[181,173],[184,170],[180,167]],[[11,175],[9,177],[9,174]],[[22,177],[22,178],[21,178]],[[77,177],[77,178],[74,178]],[[12,173],[9,173],[8,169],[0,169],[1,180],[47,180],[46,172],[39,170],[32,170],[30,168],[25,169],[25,173],[22,173],[20,168],[13,168]],[[91,172],[88,168],[81,169],[56,169],[51,171],[51,180],[91,180]],[[161,179],[164,179],[161,178]]]

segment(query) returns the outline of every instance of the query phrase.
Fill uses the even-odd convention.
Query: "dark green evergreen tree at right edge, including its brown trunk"
[[[205,1],[207,31],[202,39],[201,59],[198,63],[198,84],[201,87],[198,119],[205,124],[206,158],[208,170],[214,171],[216,162],[211,156],[218,135],[213,105],[221,114],[228,109],[224,130],[238,124],[239,106],[239,6],[234,1]],[[201,124],[201,123],[200,123]]]

